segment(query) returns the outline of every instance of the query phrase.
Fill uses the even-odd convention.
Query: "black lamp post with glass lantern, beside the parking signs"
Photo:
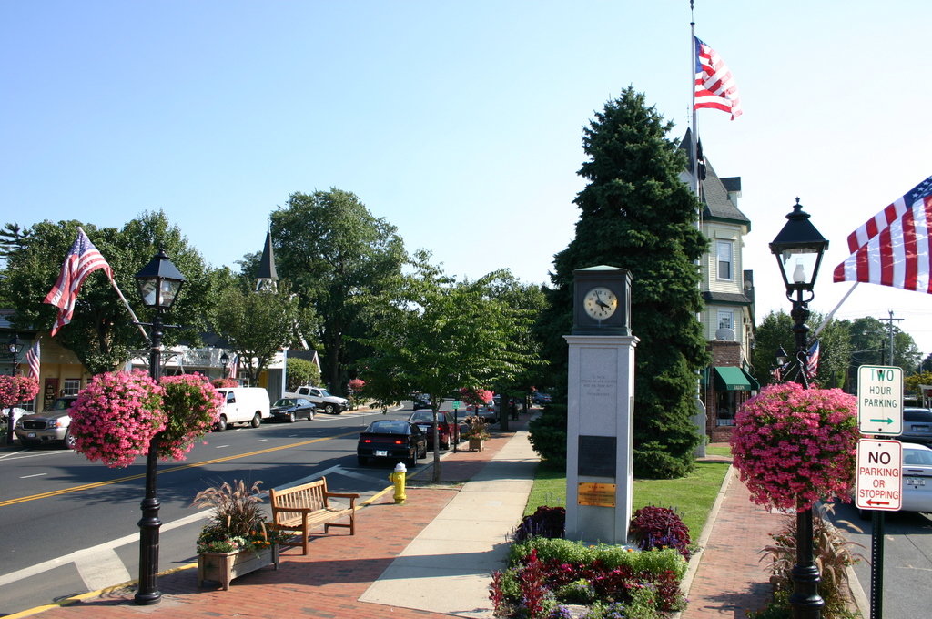
[[[809,389],[806,375],[809,354],[806,335],[809,327],[809,302],[815,296],[813,287],[822,262],[822,255],[829,248],[816,227],[809,222],[809,213],[802,211],[800,199],[796,199],[792,212],[787,215],[787,224],[780,230],[770,251],[776,255],[783,283],[787,287],[787,298],[793,304],[790,317],[793,319],[793,335],[796,338],[796,362],[803,389]],[[792,261],[792,264],[789,264]],[[782,351],[782,349],[781,349]],[[784,353],[786,354],[786,353]],[[799,501],[799,500],[798,500]],[[790,572],[793,592],[789,596],[794,619],[819,619],[825,601],[818,595],[819,572],[813,556],[813,510],[808,507],[796,510],[796,565]]]

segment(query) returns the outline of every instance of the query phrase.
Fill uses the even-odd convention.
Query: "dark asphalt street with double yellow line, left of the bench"
[[[355,455],[359,433],[381,415],[238,426],[208,434],[185,461],[159,462],[159,571],[197,560],[208,511],[191,500],[203,488],[244,479],[267,489],[321,475],[330,489],[361,500],[386,488],[391,465],[360,467]],[[143,458],[109,469],[66,449],[0,449],[0,616],[138,578],[144,473]]]

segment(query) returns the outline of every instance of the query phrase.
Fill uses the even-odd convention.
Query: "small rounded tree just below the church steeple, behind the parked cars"
[[[220,296],[213,313],[213,329],[240,355],[240,370],[256,384],[272,359],[297,339],[301,310],[279,282],[278,293],[255,293],[233,286]]]

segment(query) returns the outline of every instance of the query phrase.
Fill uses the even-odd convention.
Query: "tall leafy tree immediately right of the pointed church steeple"
[[[320,316],[323,378],[342,393],[352,366],[369,353],[356,338],[370,325],[355,300],[385,302],[382,295],[404,264],[404,242],[354,194],[336,188],[294,193],[271,218],[279,273]]]

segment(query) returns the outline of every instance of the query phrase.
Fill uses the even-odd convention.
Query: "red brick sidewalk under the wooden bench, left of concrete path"
[[[459,451],[442,465],[445,482],[463,482],[478,473],[514,436],[527,420],[513,421],[511,431],[493,431],[482,452]],[[428,461],[432,456],[428,454]],[[389,474],[386,469],[386,476]],[[319,617],[322,619],[440,619],[450,615],[382,606],[357,601],[392,560],[418,533],[430,524],[459,488],[455,484],[431,486],[431,467],[414,475],[407,488],[407,502],[395,505],[391,492],[377,498],[356,515],[356,535],[342,532],[311,536],[310,551],[289,548],[281,553],[279,569],[254,571],[230,585],[200,589],[197,570],[187,569],[158,579],[161,601],[153,606],[136,606],[135,587],[119,588],[80,599],[62,607],[51,607],[35,615],[41,619],[110,619],[147,616],[165,619],[203,617]],[[388,480],[386,479],[388,485]],[[428,484],[428,485],[425,485]],[[517,523],[515,523],[517,524]],[[193,542],[192,542],[193,543]],[[399,584],[403,586],[403,584]],[[19,613],[14,616],[30,616]]]

